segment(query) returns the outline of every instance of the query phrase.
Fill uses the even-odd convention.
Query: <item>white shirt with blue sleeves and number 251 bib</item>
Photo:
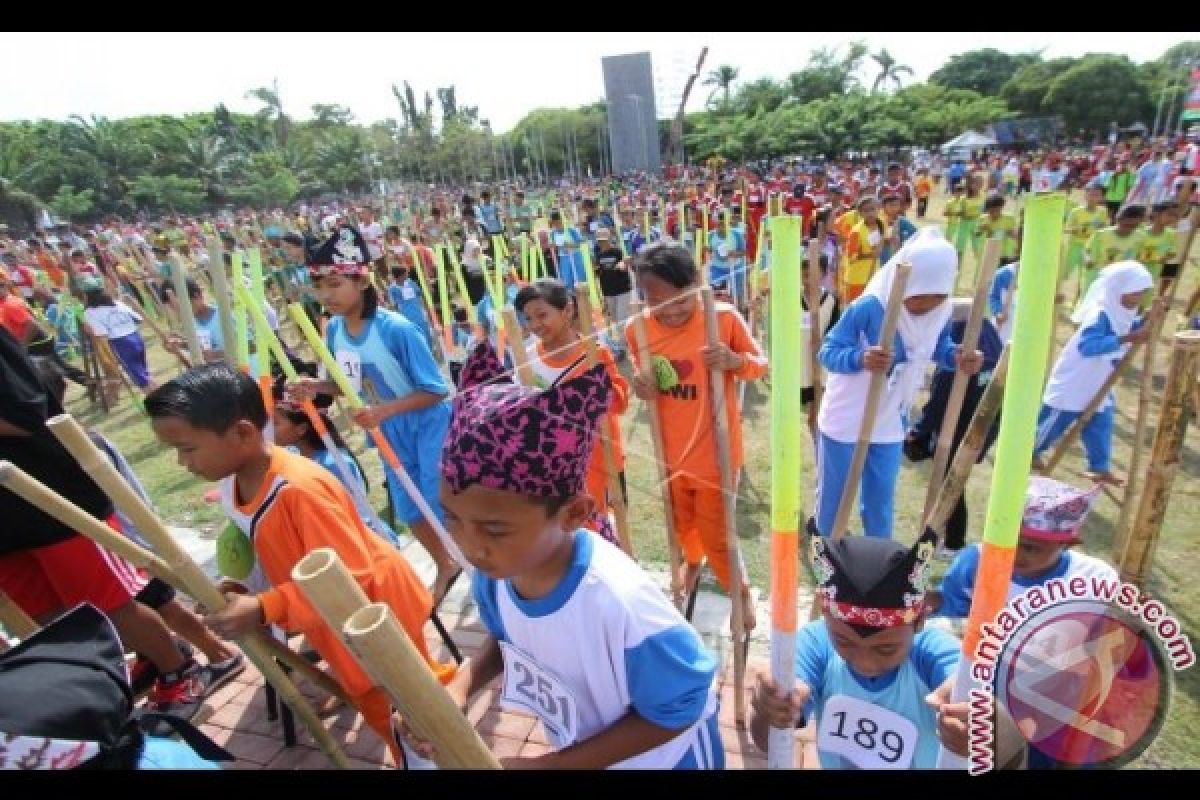
[[[624,769],[722,763],[715,724],[716,660],[650,578],[613,545],[581,529],[571,565],[545,597],[476,571],[472,590],[504,651],[509,705],[533,711],[560,750],[630,711],[679,735],[614,764]]]

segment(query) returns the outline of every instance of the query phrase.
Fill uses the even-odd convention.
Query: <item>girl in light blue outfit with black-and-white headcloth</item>
[[[318,297],[334,314],[325,327],[325,341],[352,386],[365,396],[367,407],[355,413],[354,421],[364,428],[380,428],[421,497],[440,516],[438,461],[450,422],[446,402],[450,390],[421,332],[400,314],[378,307],[366,254],[362,236],[342,227],[310,261]],[[301,401],[318,392],[341,393],[336,383],[311,378],[301,379],[295,390]],[[433,596],[440,600],[458,567],[432,522],[424,517],[386,463],[384,471],[396,519],[412,529],[437,564]]]

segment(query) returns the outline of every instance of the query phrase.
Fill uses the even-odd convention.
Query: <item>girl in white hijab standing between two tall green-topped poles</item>
[[[895,341],[884,348],[880,342],[884,308],[901,261],[912,264],[912,272],[905,285]],[[863,468],[859,510],[868,536],[890,537],[908,408],[929,362],[968,374],[978,372],[983,363],[978,351],[961,357],[950,338],[949,296],[956,272],[954,246],[940,230],[924,228],[875,273],[863,295],[846,308],[826,337],[818,357],[829,377],[817,415],[816,528],[822,535],[832,533],[863,423],[871,373],[886,373],[888,383]]]

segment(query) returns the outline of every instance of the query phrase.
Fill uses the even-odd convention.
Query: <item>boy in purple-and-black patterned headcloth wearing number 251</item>
[[[605,368],[545,391],[504,375],[475,349],[442,459],[446,523],[490,633],[446,690],[464,705],[504,673],[502,702],[536,715],[553,747],[509,768],[721,768],[715,658],[634,561],[582,528]]]

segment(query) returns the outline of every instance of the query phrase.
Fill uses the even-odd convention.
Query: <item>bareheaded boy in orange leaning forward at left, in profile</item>
[[[332,473],[264,438],[266,408],[248,375],[226,363],[188,369],[146,396],[145,410],[155,435],[178,450],[181,465],[206,480],[228,482],[234,522],[253,542],[254,583],[265,590],[227,593],[229,604],[205,616],[205,624],[229,639],[260,625],[304,633],[397,764],[403,763],[391,700],[292,582],[292,569],[319,547],[336,551],[366,596],[388,603],[430,669],[446,681],[454,668],[434,661],[425,643],[433,600],[420,577],[364,524]]]

